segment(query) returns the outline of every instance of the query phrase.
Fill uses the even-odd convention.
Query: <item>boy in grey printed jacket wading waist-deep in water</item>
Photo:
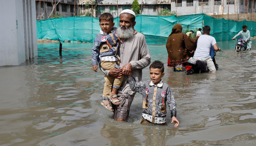
[[[139,92],[143,96],[143,119],[141,124],[161,124],[166,123],[166,101],[171,111],[174,127],[178,127],[179,122],[176,119],[176,102],[169,85],[164,84],[162,77],[165,75],[164,66],[161,61],[154,61],[150,67],[151,81],[136,82],[132,75],[128,76],[128,82],[133,91]]]

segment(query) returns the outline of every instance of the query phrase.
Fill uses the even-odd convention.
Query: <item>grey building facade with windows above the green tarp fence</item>
[[[37,19],[46,19],[52,12],[55,0],[35,0]],[[56,0],[56,3],[59,0]],[[215,2],[214,2],[215,1]],[[53,15],[99,17],[104,12],[117,17],[123,9],[132,10],[133,0],[60,0]],[[142,15],[159,15],[163,9],[177,12],[177,15],[205,13],[207,15],[256,13],[256,0],[138,0]],[[214,6],[215,3],[215,6]],[[93,4],[93,5],[91,5]],[[224,5],[223,5],[224,4]],[[93,11],[92,11],[93,10]],[[87,15],[88,14],[88,15]]]

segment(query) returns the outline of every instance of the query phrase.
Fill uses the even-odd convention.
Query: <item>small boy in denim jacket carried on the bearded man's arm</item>
[[[92,49],[94,72],[97,72],[98,69],[97,62],[99,62],[99,64],[105,70],[120,68],[120,58],[117,55],[118,47],[120,46],[120,38],[117,35],[116,27],[114,27],[115,23],[113,23],[113,21],[113,15],[110,13],[103,13],[101,16],[99,16],[99,26],[101,27],[101,31],[99,31],[99,34],[97,34]],[[137,34],[137,31],[134,33]],[[101,102],[101,105],[109,111],[113,111],[113,108],[110,106],[109,99],[115,105],[120,104],[116,94],[124,79],[124,75],[120,79],[105,75],[104,79],[105,84],[102,95],[103,101]]]

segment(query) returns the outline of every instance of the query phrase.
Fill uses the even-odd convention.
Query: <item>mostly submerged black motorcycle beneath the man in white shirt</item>
[[[213,47],[211,48],[210,55],[212,58],[212,61],[214,63],[214,66],[216,70],[218,70],[219,65],[216,64],[215,56],[216,52],[214,51]],[[188,61],[188,65],[185,66],[187,69],[187,75],[193,74],[193,73],[206,73],[208,72],[208,68],[206,66],[206,62],[204,60],[196,59],[196,58],[189,58],[190,61]]]

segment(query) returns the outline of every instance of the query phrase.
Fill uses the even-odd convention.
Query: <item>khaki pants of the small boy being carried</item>
[[[119,65],[119,60],[116,62],[101,61],[101,67],[105,70],[115,69],[114,65],[116,65],[116,64]],[[104,79],[105,79],[105,84],[104,84],[104,90],[103,90],[102,97],[108,98],[108,96],[111,92],[111,89],[112,89],[112,84],[113,84],[113,88],[119,89],[124,80],[124,75],[120,79],[105,75]],[[114,83],[113,83],[113,81],[114,81]]]

